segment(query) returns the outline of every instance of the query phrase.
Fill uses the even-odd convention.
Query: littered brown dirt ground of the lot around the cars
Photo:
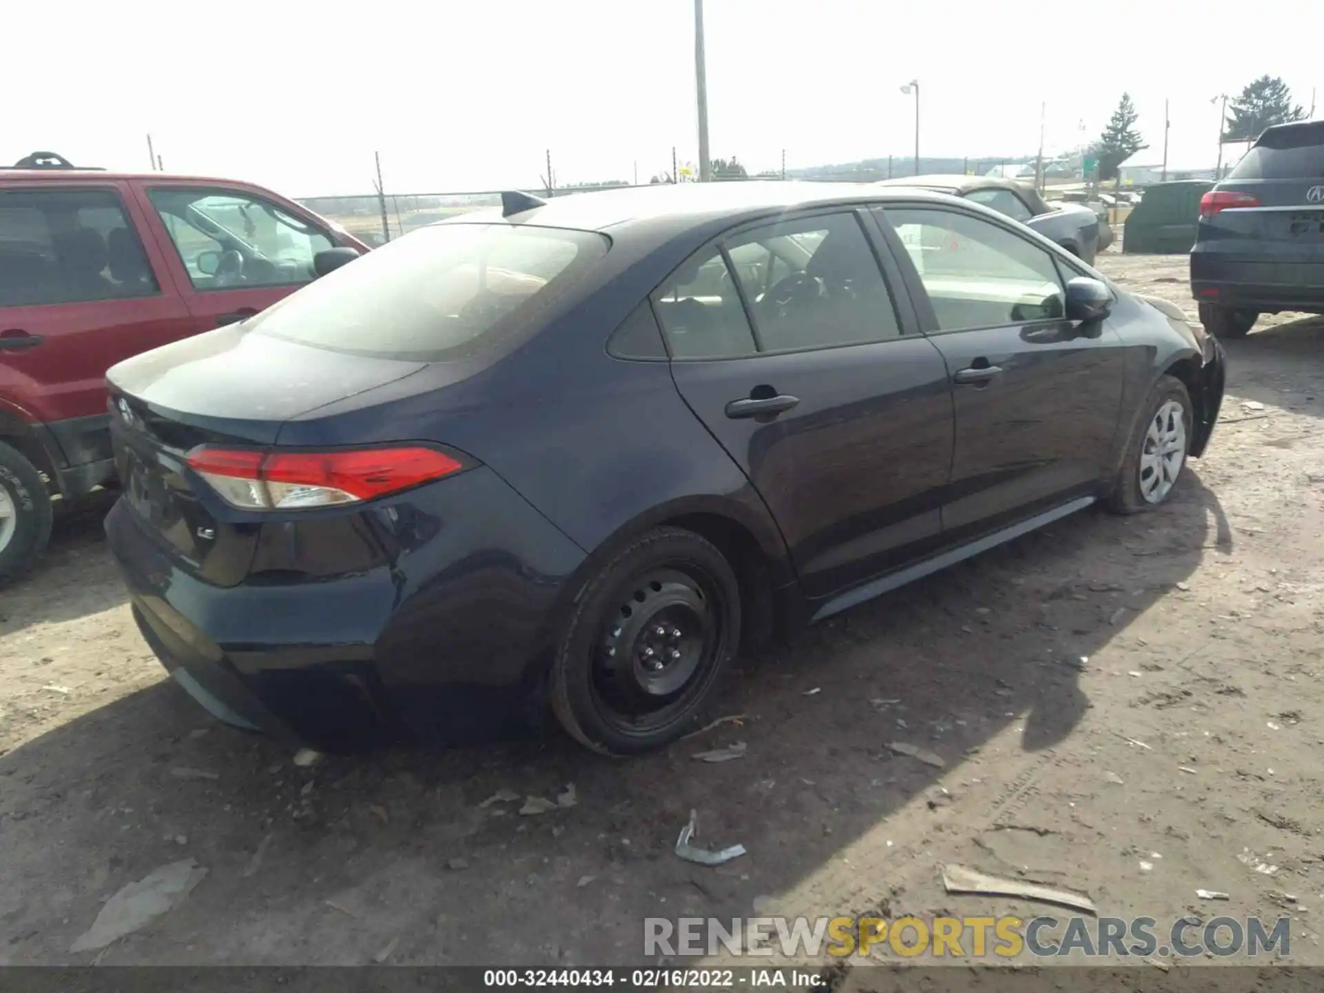
[[[1184,257],[1100,266],[1193,315]],[[948,895],[947,862],[1121,918],[1287,915],[1292,960],[1321,964],[1324,320],[1266,319],[1229,352],[1225,420],[1165,508],[1067,518],[744,659],[723,710],[743,724],[632,761],[549,733],[298,768],[163,678],[93,506],[0,594],[0,964],[638,964],[645,916],[756,902],[1050,911]],[[568,784],[576,804],[538,816],[483,802]],[[677,858],[691,809],[700,842],[748,854]],[[187,857],[207,876],[183,903],[70,952]]]

